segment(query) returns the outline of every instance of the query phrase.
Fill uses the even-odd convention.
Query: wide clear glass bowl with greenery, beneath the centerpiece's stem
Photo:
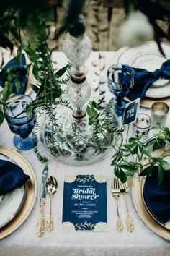
[[[75,119],[71,109],[58,108],[55,124],[48,116],[41,121],[40,140],[47,152],[62,163],[72,166],[97,163],[112,152],[117,139],[115,128],[119,127],[117,115],[112,108],[100,111],[97,124],[90,124],[89,116]]]

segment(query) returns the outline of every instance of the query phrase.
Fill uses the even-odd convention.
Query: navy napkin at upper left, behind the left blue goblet
[[[24,67],[26,65],[26,60],[24,55],[22,54],[22,64],[19,64],[19,61],[14,58],[11,59],[1,70],[0,72],[0,85],[2,87],[4,87],[5,82],[7,80],[8,77],[8,69],[9,67],[12,68],[12,73],[14,74],[14,83],[12,85],[12,93],[14,94],[22,94],[25,91],[27,82],[28,82],[28,78],[27,78],[27,69]],[[17,91],[15,82],[21,82],[22,86],[19,89],[19,91]]]

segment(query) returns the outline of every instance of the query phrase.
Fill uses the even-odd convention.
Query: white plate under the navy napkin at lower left
[[[0,154],[0,159],[17,164],[11,158],[3,154]],[[16,216],[24,202],[25,192],[25,185],[22,185],[0,197],[0,228],[5,226]]]

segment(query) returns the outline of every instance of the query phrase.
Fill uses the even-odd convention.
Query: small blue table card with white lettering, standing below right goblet
[[[135,101],[131,101],[125,105],[125,110],[122,117],[122,125],[131,124],[135,121],[139,107],[140,98],[137,98]]]

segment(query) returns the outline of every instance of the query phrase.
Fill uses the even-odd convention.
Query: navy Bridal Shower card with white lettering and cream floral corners
[[[64,176],[62,229],[107,231],[105,175]]]

